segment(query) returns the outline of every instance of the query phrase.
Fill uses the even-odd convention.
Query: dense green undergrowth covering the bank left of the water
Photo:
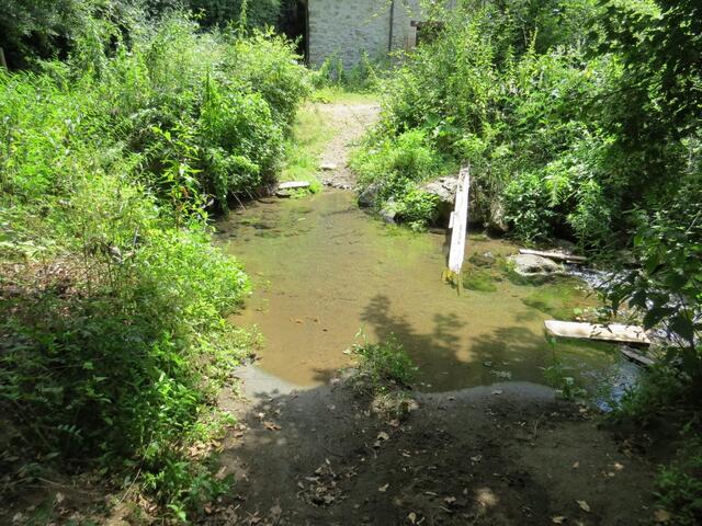
[[[0,71],[0,469],[5,498],[99,469],[185,518],[226,488],[193,447],[252,344],[208,211],[275,180],[308,80],[283,37],[147,21]]]

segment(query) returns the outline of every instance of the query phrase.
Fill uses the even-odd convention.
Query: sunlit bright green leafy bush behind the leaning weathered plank
[[[545,23],[558,3],[571,33],[552,27],[540,38],[531,24]],[[441,13],[444,30],[386,82],[383,118],[363,156],[421,132],[426,146],[454,165],[471,163],[474,217],[499,203],[522,239],[561,236],[605,245],[612,229],[625,226],[629,196],[641,192],[612,156],[614,136],[586,111],[615,89],[622,67],[611,55],[588,55],[587,22],[568,16],[597,10],[576,3],[550,2],[521,21],[489,3]],[[530,33],[525,45],[519,42]],[[380,170],[365,171],[369,180],[382,178]]]

